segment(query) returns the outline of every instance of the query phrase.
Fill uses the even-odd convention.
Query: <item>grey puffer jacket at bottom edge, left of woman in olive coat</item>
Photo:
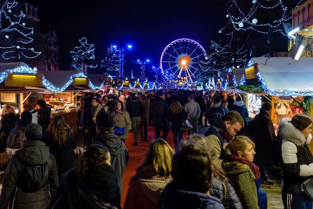
[[[226,181],[224,181],[226,182]],[[236,194],[236,191],[234,190],[233,186],[227,181],[228,185],[228,209],[242,209],[242,205],[239,201],[239,198]],[[213,185],[210,188],[210,195],[213,197],[216,197],[221,200],[221,202],[224,204],[223,197],[225,196],[225,188],[221,180],[217,178],[213,178]],[[226,207],[226,205],[224,205]]]

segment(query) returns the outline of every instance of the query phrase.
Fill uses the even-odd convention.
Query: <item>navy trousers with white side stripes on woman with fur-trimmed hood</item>
[[[305,199],[303,195],[294,195],[281,191],[284,209],[312,209],[313,201]]]

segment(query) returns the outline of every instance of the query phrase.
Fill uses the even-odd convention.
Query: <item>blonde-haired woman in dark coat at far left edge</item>
[[[3,147],[7,147],[7,138],[19,118],[20,115],[16,114],[14,107],[11,105],[3,107],[0,120],[0,134],[2,136]],[[1,151],[4,152],[4,150]]]

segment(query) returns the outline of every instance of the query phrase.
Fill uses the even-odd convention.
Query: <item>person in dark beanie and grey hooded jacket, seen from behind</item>
[[[102,114],[96,120],[97,135],[95,141],[91,144],[104,145],[111,154],[111,166],[120,188],[122,196],[123,174],[128,164],[129,154],[125,144],[118,136],[113,133],[113,118],[107,114]]]

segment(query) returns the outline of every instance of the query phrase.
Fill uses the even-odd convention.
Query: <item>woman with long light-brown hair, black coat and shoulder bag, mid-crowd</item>
[[[179,103],[178,99],[173,99],[170,106],[170,120],[172,122],[171,131],[173,132],[175,149],[180,140],[182,140],[182,131],[180,130],[182,120],[187,120],[188,113],[182,105]]]

